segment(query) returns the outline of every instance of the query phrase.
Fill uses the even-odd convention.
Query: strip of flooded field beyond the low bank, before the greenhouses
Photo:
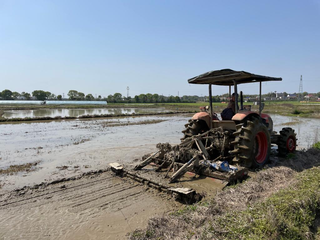
[[[85,109],[21,109],[21,110],[4,110],[3,117],[55,117],[55,116],[72,116],[92,114],[132,114],[132,113],[158,113],[165,112],[164,108],[85,108]]]

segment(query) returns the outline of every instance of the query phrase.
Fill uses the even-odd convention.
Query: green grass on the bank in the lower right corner
[[[308,232],[320,210],[320,169],[305,170],[297,179],[260,204],[220,217],[221,239],[310,239]]]

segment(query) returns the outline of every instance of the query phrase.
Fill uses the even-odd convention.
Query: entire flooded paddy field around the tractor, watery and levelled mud
[[[0,124],[0,169],[29,167],[0,174],[0,239],[121,239],[143,228],[149,216],[180,208],[166,194],[105,169],[111,162],[136,164],[136,158],[154,152],[159,142],[179,143],[189,118],[180,114]],[[277,132],[295,129],[297,149],[312,143],[320,125],[319,119],[272,118]],[[208,197],[222,189],[217,181],[204,178],[199,183],[187,174],[183,181],[190,187],[211,187]],[[61,178],[70,179],[33,185]]]

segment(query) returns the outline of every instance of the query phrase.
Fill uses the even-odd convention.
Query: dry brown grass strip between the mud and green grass
[[[319,165],[319,162],[320,151],[316,149],[297,152],[293,158],[259,171],[255,178],[229,187],[217,193],[213,199],[187,206],[171,214],[151,217],[147,228],[136,230],[128,239],[229,239],[229,235],[233,236],[234,233],[230,233],[230,229],[236,228],[232,231],[240,231],[242,226],[245,229],[245,224],[250,223],[248,217],[256,219],[256,216],[250,215],[255,206],[263,205],[271,196],[281,192],[281,189],[295,185],[299,181],[299,178],[296,178],[298,172]],[[304,205],[301,205],[301,208],[303,209]],[[249,214],[246,211],[252,212]],[[272,215],[270,214],[269,217]],[[223,221],[225,223],[221,224]],[[241,236],[233,237],[243,239]]]

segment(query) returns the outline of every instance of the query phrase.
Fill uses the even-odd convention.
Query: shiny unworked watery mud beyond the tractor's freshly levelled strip
[[[158,142],[179,143],[183,125],[180,116],[142,116],[108,119],[63,120],[0,124],[0,168],[41,161],[34,172],[0,176],[3,188],[22,187],[79,172],[105,168],[108,163],[131,162],[156,150]],[[312,144],[319,119],[273,115],[279,132],[288,122],[298,137],[298,149]],[[165,120],[157,124],[108,127],[108,124]],[[66,166],[65,170],[57,167]]]

